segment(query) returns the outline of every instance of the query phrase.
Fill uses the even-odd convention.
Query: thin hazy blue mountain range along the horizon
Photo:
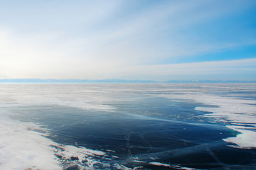
[[[0,83],[6,84],[157,84],[157,83],[256,83],[255,81],[246,80],[169,80],[169,81],[152,81],[152,80],[125,80],[125,79],[0,79]]]

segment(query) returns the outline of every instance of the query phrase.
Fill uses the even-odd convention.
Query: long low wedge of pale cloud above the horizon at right
[[[160,64],[119,68],[116,77],[132,79],[247,79],[256,72],[256,58],[220,62]],[[114,74],[114,73],[112,73]],[[251,75],[250,75],[251,74]],[[195,76],[196,75],[196,76]],[[243,75],[244,77],[241,77]]]

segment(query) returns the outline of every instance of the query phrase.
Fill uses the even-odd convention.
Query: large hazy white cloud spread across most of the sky
[[[8,21],[3,15],[0,17],[0,75],[105,79],[137,77],[139,71],[150,78],[174,74],[172,70],[178,74],[197,74],[203,69],[210,74],[210,68],[202,64],[201,71],[191,64],[138,65],[163,63],[166,59],[172,62],[255,43],[253,38],[231,42],[214,38],[206,41],[201,37],[194,40],[193,35],[185,34],[197,24],[243,10],[248,4],[242,1],[159,1],[154,5],[138,1],[84,1],[73,5],[67,1],[52,2],[51,6],[48,3],[9,5],[9,10],[1,11],[10,18]]]

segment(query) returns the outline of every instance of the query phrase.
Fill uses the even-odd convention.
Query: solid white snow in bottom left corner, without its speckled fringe
[[[1,116],[0,169],[61,169],[56,159],[53,142],[43,137],[32,123],[21,123]]]

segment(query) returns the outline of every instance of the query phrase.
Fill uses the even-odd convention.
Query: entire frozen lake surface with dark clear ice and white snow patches
[[[0,169],[253,169],[256,84],[1,84]]]

